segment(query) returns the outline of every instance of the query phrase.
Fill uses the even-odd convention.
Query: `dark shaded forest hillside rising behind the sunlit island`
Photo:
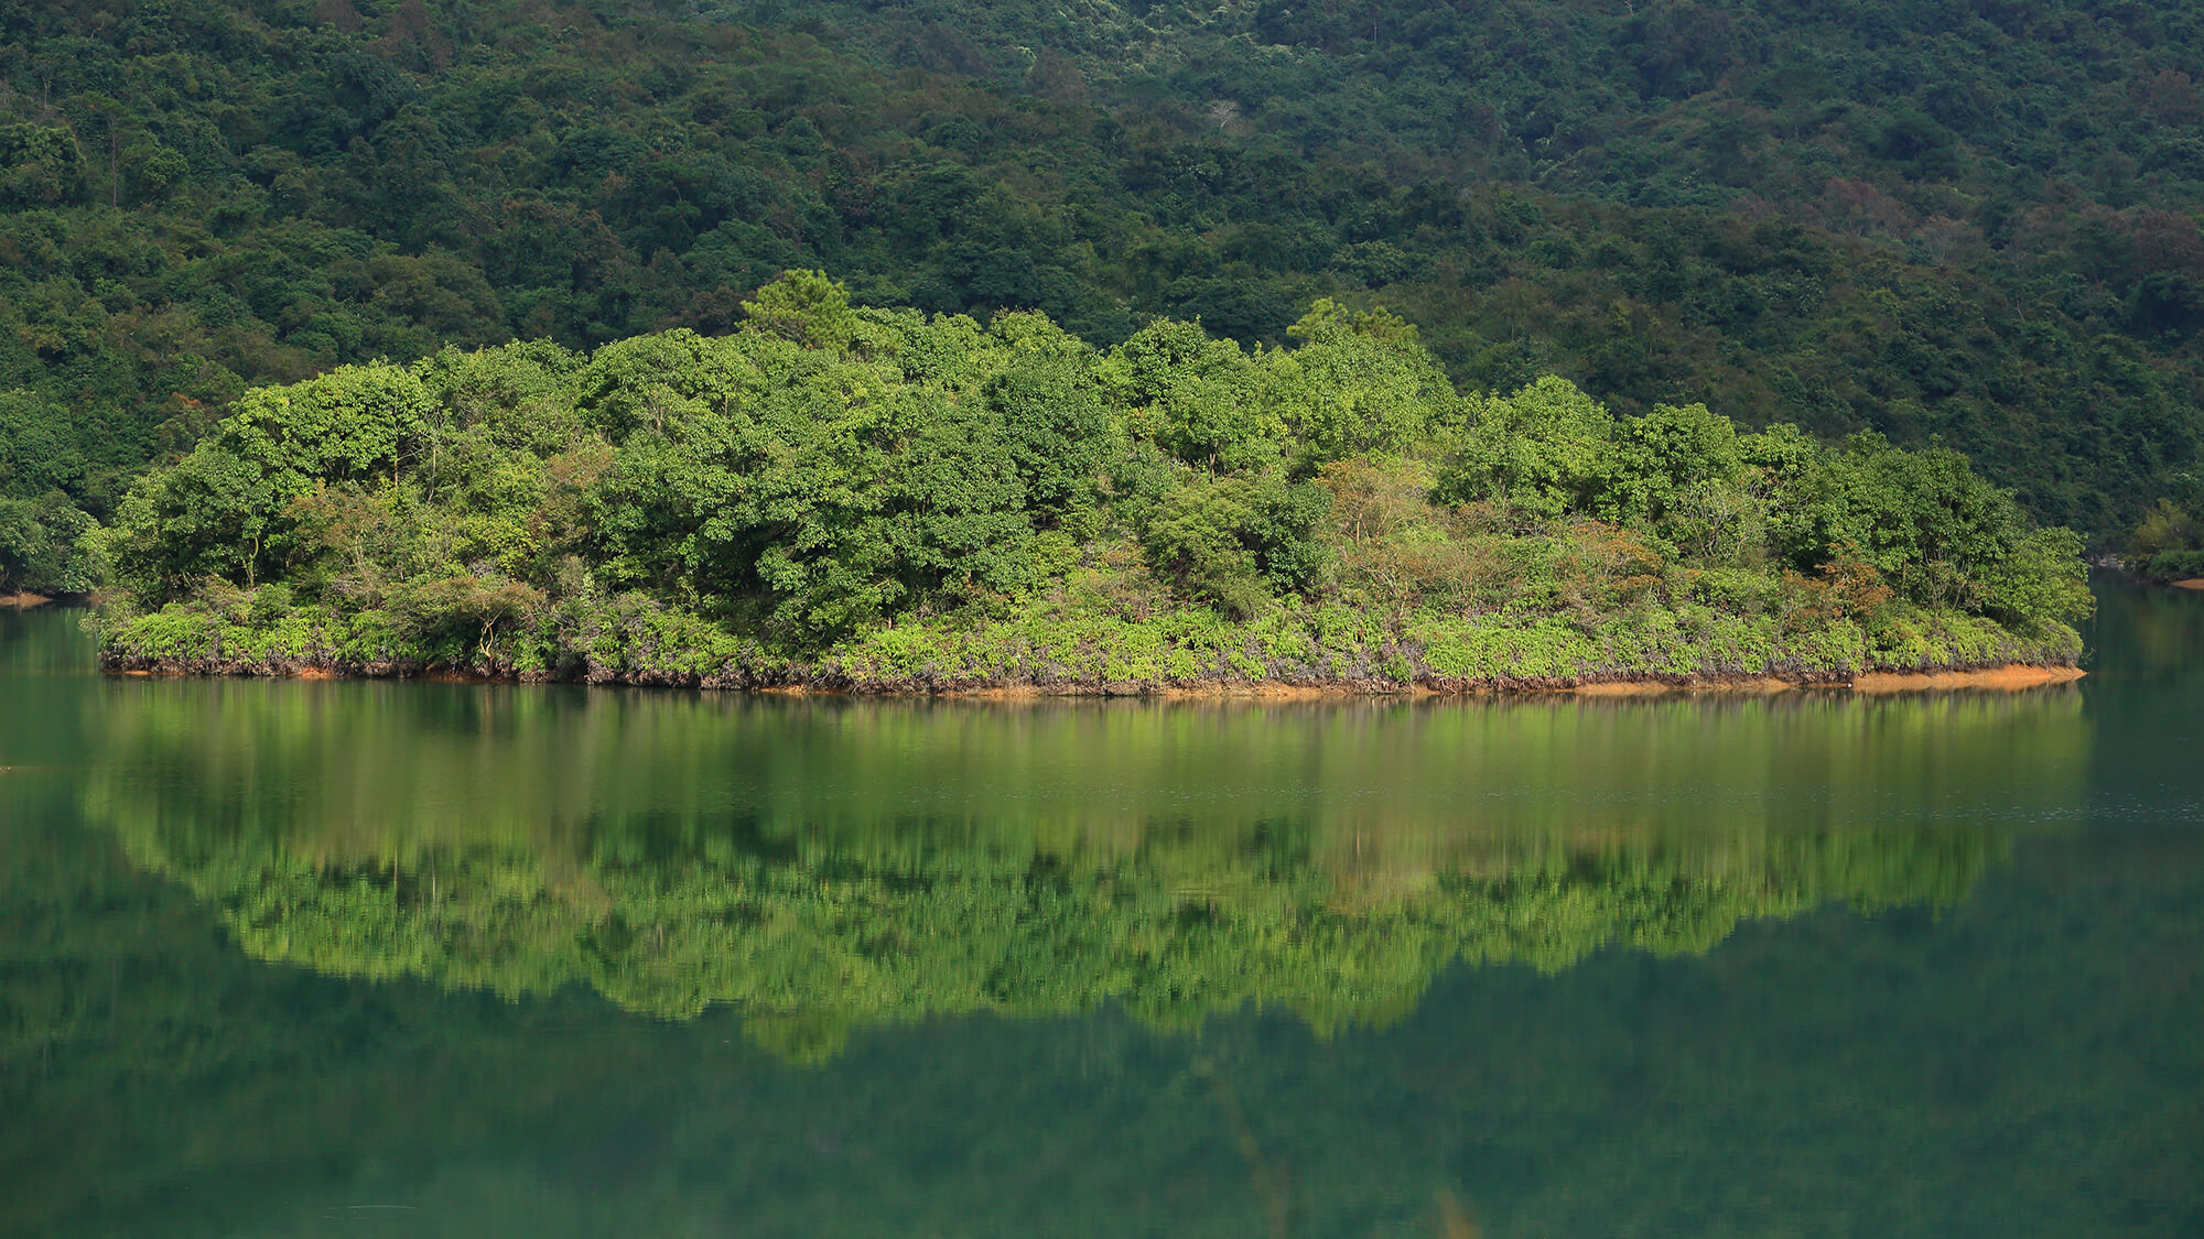
[[[0,547],[251,384],[815,267],[1095,344],[1384,304],[1472,390],[1940,437],[2180,551],[2200,62],[2197,0],[7,2]]]

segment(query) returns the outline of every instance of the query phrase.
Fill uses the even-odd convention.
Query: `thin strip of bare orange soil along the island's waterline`
[[[364,664],[331,666],[309,661],[245,661],[245,659],[139,659],[101,655],[101,668],[110,675],[132,677],[271,677],[271,679],[425,679],[439,683],[549,683],[540,675],[480,675],[441,666],[417,664]],[[1397,679],[1329,679],[1329,681],[1278,681],[1278,679],[1203,679],[1190,683],[1146,683],[1146,681],[1056,681],[1056,683],[930,683],[930,681],[849,681],[842,677],[820,677],[818,681],[789,683],[743,683],[743,681],[668,681],[628,677],[588,677],[588,683],[628,688],[719,688],[736,692],[769,692],[780,697],[943,697],[963,701],[1038,701],[1045,697],[1148,697],[1159,701],[1320,701],[1338,697],[1492,697],[1527,692],[1571,692],[1578,697],[1666,697],[1708,692],[1792,692],[1801,688],[1834,688],[1869,694],[1889,692],[1933,692],[1933,690],[2021,690],[2052,683],[2072,683],[2087,675],[2074,666],[2001,664],[1984,668],[1942,670],[1871,670],[1845,677],[1781,677],[1781,675],[1695,675],[1695,677],[1503,677],[1503,679],[1444,679],[1422,677],[1413,683]]]

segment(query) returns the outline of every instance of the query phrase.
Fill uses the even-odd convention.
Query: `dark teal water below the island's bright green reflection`
[[[75,955],[11,970],[7,999],[44,979],[90,1010],[0,1098],[0,1164],[40,1184],[0,1193],[4,1232],[185,1232],[214,1210],[300,1232],[331,1199],[403,1199],[421,1235],[1261,1235],[1252,1135],[1294,1235],[1430,1235],[1450,1184],[1490,1235],[2140,1237],[2178,1232],[2164,1202],[2193,1197],[2204,1149],[2197,994],[2147,972],[2195,939],[2193,849],[2120,884],[2094,840],[2034,840],[2036,864],[1933,933],[1823,915],[1704,959],[1450,977],[1331,1045],[1247,1016],[1153,1038],[1104,1012],[930,1021],[780,1071],[725,1043],[723,1012],[256,966],[174,884],[82,873],[104,836],[51,836],[51,858],[4,851],[0,926]],[[840,1032],[771,1021],[780,1052]]]

